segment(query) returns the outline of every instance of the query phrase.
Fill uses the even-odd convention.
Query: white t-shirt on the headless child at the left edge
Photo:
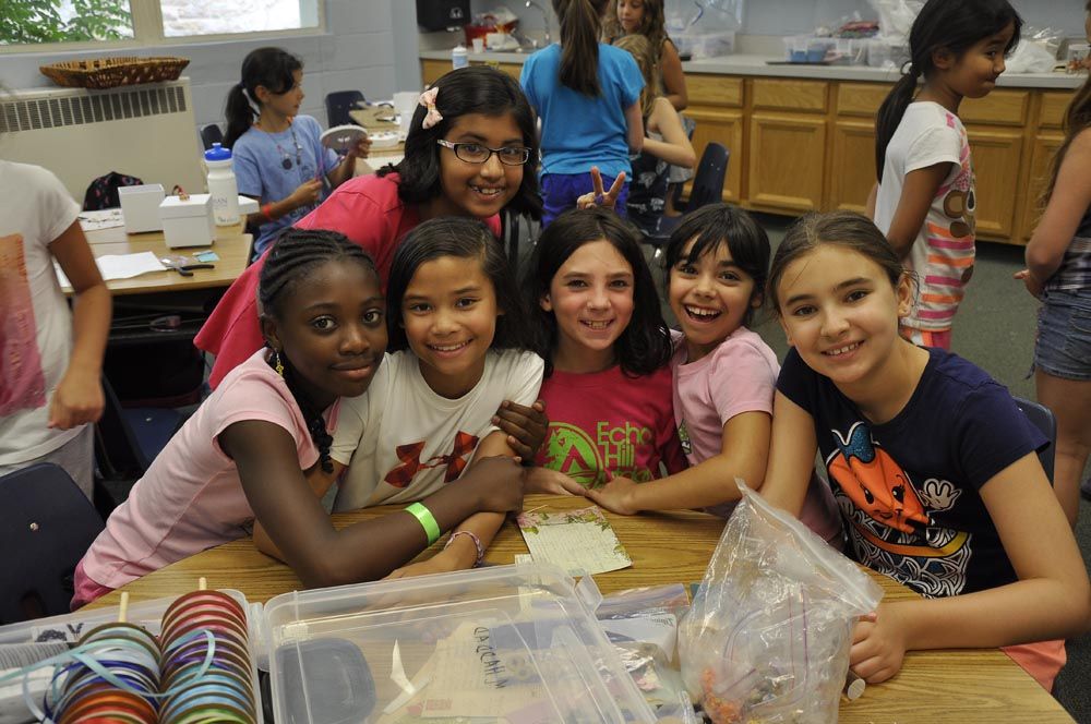
[[[49,244],[79,214],[51,172],[0,160],[0,466],[52,452],[83,430],[46,426],[72,355],[72,314]]]

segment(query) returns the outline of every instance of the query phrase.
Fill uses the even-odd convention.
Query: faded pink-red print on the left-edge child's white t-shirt
[[[23,236],[0,237],[0,417],[46,405]]]

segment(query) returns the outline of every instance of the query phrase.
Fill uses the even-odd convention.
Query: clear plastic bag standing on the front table
[[[852,627],[883,591],[738,482],[743,499],[679,627],[682,679],[716,724],[836,722]]]

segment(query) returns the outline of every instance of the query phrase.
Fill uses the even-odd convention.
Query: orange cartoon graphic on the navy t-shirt
[[[830,432],[837,448],[826,470],[860,563],[912,582],[926,596],[960,593],[972,555],[971,536],[939,526],[931,514],[954,508],[962,491],[935,478],[914,485],[863,421],[848,434]]]

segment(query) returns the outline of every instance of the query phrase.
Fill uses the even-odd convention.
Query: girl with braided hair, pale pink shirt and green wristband
[[[224,378],[110,516],[76,568],[73,608],[251,527],[304,586],[335,586],[388,575],[477,512],[521,507],[521,468],[490,459],[411,515],[335,530],[321,471],[340,398],[368,389],[386,350],[379,275],[344,236],[292,229],[267,256],[259,298],[266,347]]]

